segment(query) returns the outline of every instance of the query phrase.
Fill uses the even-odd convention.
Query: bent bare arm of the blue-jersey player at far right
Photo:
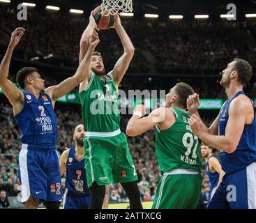
[[[225,129],[225,135],[213,135],[204,131],[202,121],[193,114],[188,120],[191,130],[206,144],[226,153],[233,153],[236,150],[243,128],[246,123],[248,112],[251,112],[252,105],[249,100],[236,98],[229,107],[229,119]]]

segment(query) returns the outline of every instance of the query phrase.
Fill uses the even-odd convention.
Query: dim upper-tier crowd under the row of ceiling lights
[[[0,8],[0,49],[4,51],[10,32],[23,26],[26,33],[17,47],[17,56],[43,59],[47,63],[76,67],[82,32],[88,24],[84,15],[39,11],[29,8],[27,21],[17,20],[17,10]],[[135,45],[131,72],[215,72],[235,57],[255,62],[255,20],[165,21],[122,18],[123,26]],[[241,38],[243,36],[243,38]],[[98,51],[107,68],[112,68],[123,48],[113,29],[100,31]]]

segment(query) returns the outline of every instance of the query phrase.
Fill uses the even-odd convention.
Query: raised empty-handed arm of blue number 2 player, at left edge
[[[3,90],[4,95],[6,95],[6,97],[10,101],[10,104],[13,105],[14,113],[18,112],[15,112],[15,109],[20,110],[19,108],[17,108],[19,107],[19,105],[23,105],[24,96],[22,91],[20,91],[20,89],[17,89],[15,84],[13,84],[13,82],[8,79],[8,74],[13,50],[15,49],[15,46],[20,42],[24,31],[25,29],[23,29],[22,27],[19,27],[15,29],[15,31],[13,31],[10,38],[10,43],[8,45],[8,49],[0,65],[0,88]]]

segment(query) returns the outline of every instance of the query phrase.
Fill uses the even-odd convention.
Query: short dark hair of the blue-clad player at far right
[[[253,76],[253,68],[248,61],[243,59],[236,58],[234,61],[236,62],[234,63],[234,70],[236,70],[239,75],[238,81],[244,85],[250,81],[250,78]]]

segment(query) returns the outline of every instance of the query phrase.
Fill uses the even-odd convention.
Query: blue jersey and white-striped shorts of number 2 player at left
[[[37,99],[24,91],[24,107],[14,118],[20,127],[22,141],[19,155],[22,203],[30,195],[45,201],[59,201],[62,190],[59,157],[55,147],[57,118],[50,96],[40,93]]]

